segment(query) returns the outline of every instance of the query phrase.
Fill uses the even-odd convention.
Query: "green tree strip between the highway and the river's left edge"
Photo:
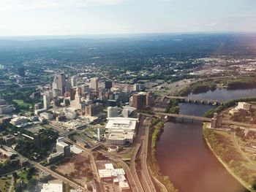
[[[157,141],[160,138],[160,135],[162,134],[164,123],[159,119],[152,120],[151,125],[151,159],[149,161],[149,166],[151,169],[151,174],[153,174],[154,177],[157,178],[162,184],[165,185],[167,188],[167,191],[175,192],[178,191],[173,183],[170,182],[170,179],[166,175],[162,175],[159,164],[156,157],[156,148],[157,148]]]

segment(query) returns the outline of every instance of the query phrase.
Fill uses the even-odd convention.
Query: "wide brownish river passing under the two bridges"
[[[217,89],[189,95],[198,99],[227,101],[256,96],[256,89],[227,91]],[[202,116],[214,108],[181,103],[180,113]],[[157,143],[157,160],[162,174],[168,175],[180,192],[241,192],[245,189],[219,163],[203,139],[202,123],[166,123]]]

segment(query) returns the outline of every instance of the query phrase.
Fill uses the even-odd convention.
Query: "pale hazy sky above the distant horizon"
[[[256,31],[256,0],[0,0],[0,36]]]

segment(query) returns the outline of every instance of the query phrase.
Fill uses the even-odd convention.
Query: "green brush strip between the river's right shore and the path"
[[[222,134],[218,134],[216,131],[203,128],[203,136],[211,146],[214,153],[228,165],[233,172],[244,180],[245,183],[255,183],[256,177],[252,170],[249,170],[241,162],[238,161],[236,155],[231,152],[231,147],[227,142],[227,138],[223,137]]]

